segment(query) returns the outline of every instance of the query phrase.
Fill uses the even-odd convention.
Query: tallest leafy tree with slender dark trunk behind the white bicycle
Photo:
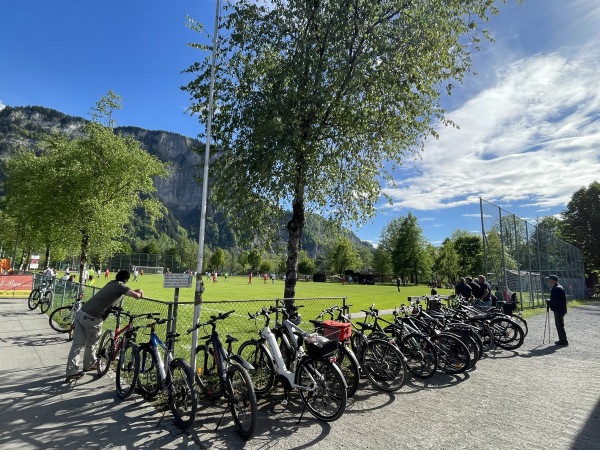
[[[214,195],[241,229],[291,208],[284,296],[293,298],[306,213],[340,223],[375,211],[385,162],[419,152],[471,68],[494,0],[240,0],[217,44]],[[202,27],[192,24],[201,31]],[[210,45],[183,89],[206,123]]]

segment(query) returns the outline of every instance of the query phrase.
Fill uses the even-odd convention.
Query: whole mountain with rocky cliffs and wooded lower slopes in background
[[[6,107],[0,110],[0,162],[10,158],[19,146],[39,149],[40,138],[44,134],[59,132],[73,138],[81,137],[86,123],[86,119],[82,117],[69,116],[41,106]],[[116,127],[115,132],[133,136],[148,153],[171,164],[170,176],[154,182],[157,197],[169,211],[157,225],[158,231],[174,237],[177,226],[181,226],[188,231],[189,236],[197,236],[202,186],[196,181],[196,177],[202,171],[204,158],[200,155],[204,152],[204,144],[177,133],[131,126]],[[2,177],[3,172],[0,172],[0,181]],[[135,228],[144,233],[143,227]],[[313,257],[321,254],[326,244],[324,237],[329,233],[323,230],[326,230],[323,218],[307,215],[302,248]],[[360,241],[353,233],[348,232],[348,236],[359,246],[372,249],[370,244]],[[287,236],[282,235],[282,239],[286,240]],[[210,205],[205,242],[211,248],[230,248],[236,245],[234,233],[219,211],[213,210]]]

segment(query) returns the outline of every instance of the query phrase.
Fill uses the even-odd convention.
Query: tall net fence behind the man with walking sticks
[[[553,274],[568,297],[585,298],[581,250],[485,200],[480,208],[485,272],[495,291],[508,288],[523,307],[542,306]]]

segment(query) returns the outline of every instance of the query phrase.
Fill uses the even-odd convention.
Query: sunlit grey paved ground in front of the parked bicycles
[[[214,430],[220,404],[203,403],[184,434],[139,397],[119,400],[111,373],[64,384],[65,337],[25,300],[0,299],[0,449],[600,449],[600,305],[569,310],[567,348],[541,343],[544,323],[529,319],[523,347],[465,374],[411,380],[394,395],[363,381],[331,424],[308,413],[299,422],[299,398],[284,407],[275,392],[244,443],[229,413]]]

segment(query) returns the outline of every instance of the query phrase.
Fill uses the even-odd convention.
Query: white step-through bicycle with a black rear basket
[[[288,368],[285,364],[277,339],[269,328],[271,314],[284,309],[281,306],[262,308],[255,314],[248,313],[250,320],[264,316],[265,326],[259,331],[259,339],[250,339],[238,349],[238,355],[244,357],[254,367],[250,376],[255,391],[266,393],[275,382],[275,376],[281,380],[287,404],[290,390],[298,390],[305,409],[318,420],[331,422],[339,419],[346,409],[348,400],[347,384],[340,368],[332,356],[338,348],[336,340],[306,333],[287,319],[282,324],[297,336],[293,340],[296,348],[295,358]],[[306,351],[302,347],[306,345]],[[291,370],[290,370],[291,369]],[[300,415],[300,420],[304,410]]]

